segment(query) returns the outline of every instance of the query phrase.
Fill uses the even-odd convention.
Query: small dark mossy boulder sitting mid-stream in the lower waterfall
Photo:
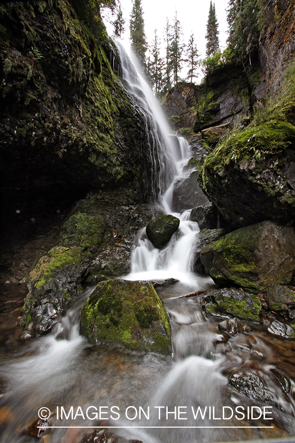
[[[179,223],[180,220],[172,215],[161,215],[149,221],[146,228],[148,239],[155,248],[162,248],[177,231]]]

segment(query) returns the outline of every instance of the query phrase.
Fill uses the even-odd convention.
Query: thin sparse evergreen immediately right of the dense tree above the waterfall
[[[154,32],[155,37],[151,45],[151,60],[149,59],[148,63],[148,74],[154,94],[159,96],[165,84],[164,60],[160,57],[160,45],[157,30],[155,29]]]

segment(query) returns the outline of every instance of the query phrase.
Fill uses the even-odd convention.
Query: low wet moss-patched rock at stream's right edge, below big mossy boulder
[[[202,297],[202,308],[207,316],[238,317],[259,323],[261,304],[259,298],[242,289],[214,289]]]

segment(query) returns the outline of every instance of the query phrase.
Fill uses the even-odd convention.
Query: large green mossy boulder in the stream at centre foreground
[[[82,308],[80,329],[91,344],[171,353],[168,315],[153,286],[147,282],[99,283]]]

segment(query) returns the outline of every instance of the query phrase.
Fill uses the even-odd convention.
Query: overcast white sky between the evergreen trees
[[[227,21],[226,9],[228,0],[215,0],[216,17],[219,23],[219,40],[221,49],[226,46]],[[170,23],[173,22],[175,12],[180,21],[183,32],[183,41],[188,43],[189,36],[193,32],[195,42],[202,58],[206,56],[206,27],[208,20],[210,0],[142,0],[144,11],[145,32],[150,45],[154,38],[154,30],[162,38],[168,17]],[[121,0],[123,18],[125,20],[124,41],[129,41],[129,20],[132,9],[132,0]],[[113,27],[105,20],[105,25],[110,35]],[[161,42],[164,47],[164,43]]]

